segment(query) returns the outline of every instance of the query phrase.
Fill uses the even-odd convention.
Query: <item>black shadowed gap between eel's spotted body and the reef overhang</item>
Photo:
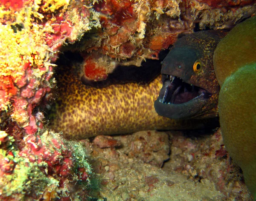
[[[124,83],[139,83],[141,85],[149,83],[151,80],[160,75],[161,61],[169,53],[169,49],[163,50],[159,54],[159,60],[148,59],[141,63],[141,66],[116,66],[114,71],[108,75],[106,80],[94,81],[81,78],[81,82],[95,88],[103,88],[111,84],[124,84]],[[58,67],[55,70],[55,78],[58,80],[58,76],[63,74],[63,71],[70,71],[75,73],[71,69],[72,64],[81,65],[83,58],[76,52],[64,52],[59,56],[56,64]],[[67,67],[63,67],[67,66]]]

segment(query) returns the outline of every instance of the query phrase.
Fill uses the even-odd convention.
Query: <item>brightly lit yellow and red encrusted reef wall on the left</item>
[[[69,1],[0,2],[0,199],[86,198],[93,172],[84,148],[47,130],[42,109],[59,48],[96,26],[93,11],[82,7],[77,24]]]

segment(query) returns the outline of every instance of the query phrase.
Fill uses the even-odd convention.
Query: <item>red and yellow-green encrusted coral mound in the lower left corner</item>
[[[0,132],[0,139],[1,200],[87,196],[88,192],[73,192],[79,182],[90,185],[93,174],[80,143],[66,142],[59,134],[48,131],[40,136],[27,135],[22,150],[17,149],[14,138],[6,132]],[[79,188],[85,190],[83,186]]]

